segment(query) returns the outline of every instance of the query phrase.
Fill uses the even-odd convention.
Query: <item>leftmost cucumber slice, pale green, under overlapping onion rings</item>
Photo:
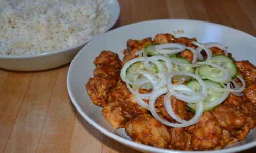
[[[138,61],[138,62],[136,62],[136,63],[133,63],[133,64],[130,65],[130,67],[127,68],[127,70],[126,70],[126,77],[127,77],[127,79],[129,80],[129,82],[131,82],[132,84],[133,84],[139,77],[141,77],[141,74],[139,74],[139,73],[133,71],[133,70],[138,70],[138,69],[140,69],[140,70],[145,69],[145,68],[144,68],[144,65],[143,65],[140,61]],[[130,85],[132,85],[132,84],[130,84]]]

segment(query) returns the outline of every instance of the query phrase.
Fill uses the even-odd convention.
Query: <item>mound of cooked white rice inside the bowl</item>
[[[76,45],[104,31],[110,16],[103,0],[0,0],[0,54]]]

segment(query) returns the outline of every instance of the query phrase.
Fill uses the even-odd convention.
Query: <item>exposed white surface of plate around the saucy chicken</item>
[[[181,30],[184,32],[177,32]],[[239,30],[196,20],[164,19],[144,21],[109,31],[82,48],[71,62],[68,70],[68,93],[78,112],[90,124],[103,134],[124,145],[142,152],[187,152],[154,148],[129,140],[130,138],[126,135],[124,129],[115,130],[111,124],[104,119],[101,114],[101,107],[92,103],[85,88],[85,84],[88,82],[89,78],[93,77],[93,70],[95,69],[93,64],[94,59],[102,50],[115,52],[119,54],[122,60],[122,50],[126,48],[126,41],[128,39],[141,40],[146,37],[153,38],[159,33],[176,33],[175,37],[196,37],[197,41],[202,43],[219,42],[228,47],[228,51],[232,53],[236,60],[249,60],[256,65],[256,61],[254,60],[256,57],[256,38]],[[256,129],[252,130],[244,141],[235,143],[222,150],[207,152],[238,152],[254,146],[256,146]]]

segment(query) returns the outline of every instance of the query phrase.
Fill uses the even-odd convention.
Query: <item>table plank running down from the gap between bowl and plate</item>
[[[36,152],[68,152],[76,109],[67,92],[69,65],[59,69]]]

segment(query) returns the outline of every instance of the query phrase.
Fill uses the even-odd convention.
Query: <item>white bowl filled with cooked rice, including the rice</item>
[[[0,0],[0,68],[39,71],[68,64],[119,14],[117,0]]]

